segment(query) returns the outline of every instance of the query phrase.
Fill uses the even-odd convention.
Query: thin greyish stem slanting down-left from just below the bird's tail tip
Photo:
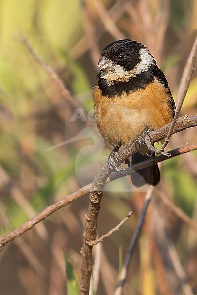
[[[126,253],[126,256],[125,256],[125,261],[124,261],[122,269],[121,269],[118,285],[117,285],[117,288],[115,290],[114,295],[121,295],[124,283],[126,281],[126,276],[127,276],[128,267],[129,267],[129,264],[130,264],[130,261],[131,261],[131,256],[133,254],[133,250],[134,250],[136,241],[138,239],[138,236],[139,236],[139,234],[141,232],[142,226],[144,225],[144,219],[145,219],[145,216],[146,216],[148,205],[149,205],[149,203],[151,201],[153,191],[154,191],[154,186],[151,186],[149,188],[149,191],[146,194],[144,204],[143,204],[143,207],[141,209],[139,219],[137,221],[137,225],[136,225],[134,233],[132,235],[130,245],[129,245],[128,249],[127,249],[127,253]]]

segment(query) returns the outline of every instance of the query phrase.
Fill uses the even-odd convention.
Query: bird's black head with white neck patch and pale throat
[[[148,49],[129,39],[109,44],[101,53],[97,68],[100,78],[106,79],[109,85],[126,82],[156,65]]]

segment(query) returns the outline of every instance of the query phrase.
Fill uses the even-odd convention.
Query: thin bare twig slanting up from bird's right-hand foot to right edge
[[[165,142],[164,142],[163,146],[161,147],[161,151],[164,151],[164,148],[169,143],[170,137],[173,134],[173,128],[174,128],[174,126],[176,124],[177,118],[178,118],[179,113],[181,111],[181,108],[182,108],[186,93],[187,93],[189,85],[190,85],[190,80],[191,80],[192,74],[194,72],[196,56],[197,56],[197,36],[195,38],[194,45],[192,47],[191,53],[189,55],[189,58],[187,60],[187,63],[186,63],[186,66],[185,66],[185,69],[184,69],[184,72],[183,72],[183,77],[182,77],[181,84],[180,84],[181,92],[180,91],[178,92],[179,95],[180,95],[180,93],[182,93],[182,96],[180,98],[180,101],[179,101],[179,97],[178,97],[179,105],[178,105],[178,107],[177,107],[177,109],[175,111],[175,116],[173,118],[173,121],[171,122],[171,126],[169,128],[169,131],[168,131],[167,137],[165,139]],[[183,92],[182,92],[182,89],[183,89]]]

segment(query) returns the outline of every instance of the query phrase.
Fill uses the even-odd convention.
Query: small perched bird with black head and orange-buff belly
[[[144,45],[129,39],[115,41],[102,51],[97,68],[100,73],[98,86],[93,88],[94,114],[102,137],[116,147],[114,151],[121,145],[131,145],[145,131],[172,121],[175,103],[168,82]],[[132,155],[131,163],[147,160],[148,156],[146,150],[140,150]],[[131,180],[136,187],[157,185],[158,165],[132,173]]]

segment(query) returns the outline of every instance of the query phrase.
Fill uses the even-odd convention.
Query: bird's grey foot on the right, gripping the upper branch
[[[139,137],[137,137],[135,141],[135,147],[139,149],[139,152],[141,155],[146,155],[148,157],[152,157],[153,153],[156,153],[157,155],[166,155],[167,157],[170,157],[170,153],[168,152],[161,152],[160,149],[155,148],[154,144],[151,142],[151,136],[150,136],[151,130],[147,129],[146,131],[142,132]],[[145,154],[142,152],[142,146],[146,144],[147,148],[150,152],[145,152]]]

